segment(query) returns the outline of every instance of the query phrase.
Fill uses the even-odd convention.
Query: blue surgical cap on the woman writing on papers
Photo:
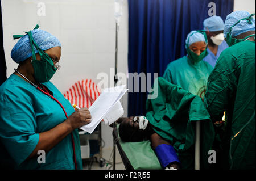
[[[35,40],[35,43],[42,50],[47,50],[53,47],[61,46],[60,41],[47,31],[35,29],[32,30],[31,33],[33,39]],[[35,45],[34,50],[35,53],[38,53],[38,50],[35,48]],[[32,52],[30,40],[28,38],[28,35],[26,34],[23,37],[21,37],[20,40],[14,45],[13,49],[11,50],[11,58],[13,58],[13,60],[19,64],[20,62],[26,60],[31,56]]]

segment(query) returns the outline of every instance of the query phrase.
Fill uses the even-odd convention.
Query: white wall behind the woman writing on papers
[[[46,15],[38,16],[39,2],[46,5]],[[17,68],[10,53],[18,40],[38,22],[40,28],[55,35],[61,42],[61,69],[51,82],[61,91],[81,79],[98,83],[97,74],[109,75],[115,62],[114,0],[1,0],[3,44],[7,77]],[[118,72],[127,71],[128,9],[123,4],[123,15],[118,33]],[[114,78],[111,78],[113,81]],[[127,116],[127,94],[121,100]],[[113,146],[112,128],[102,124],[102,138],[106,148]]]

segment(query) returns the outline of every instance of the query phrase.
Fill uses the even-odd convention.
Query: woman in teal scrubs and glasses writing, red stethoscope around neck
[[[60,68],[61,44],[38,27],[15,36],[21,39],[11,58],[19,66],[0,87],[1,167],[82,169],[77,128],[90,123],[90,112],[75,111],[49,82]]]

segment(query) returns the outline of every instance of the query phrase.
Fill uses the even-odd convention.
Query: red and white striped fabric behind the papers
[[[89,108],[92,106],[99,95],[100,90],[92,79],[78,81],[64,93],[64,97],[68,99],[71,104],[76,104],[76,106],[80,108]]]

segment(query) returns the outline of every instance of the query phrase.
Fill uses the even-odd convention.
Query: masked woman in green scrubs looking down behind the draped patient
[[[207,37],[204,31],[191,31],[185,40],[188,55],[167,65],[163,78],[181,86],[202,99],[212,66],[202,61],[207,56]]]

